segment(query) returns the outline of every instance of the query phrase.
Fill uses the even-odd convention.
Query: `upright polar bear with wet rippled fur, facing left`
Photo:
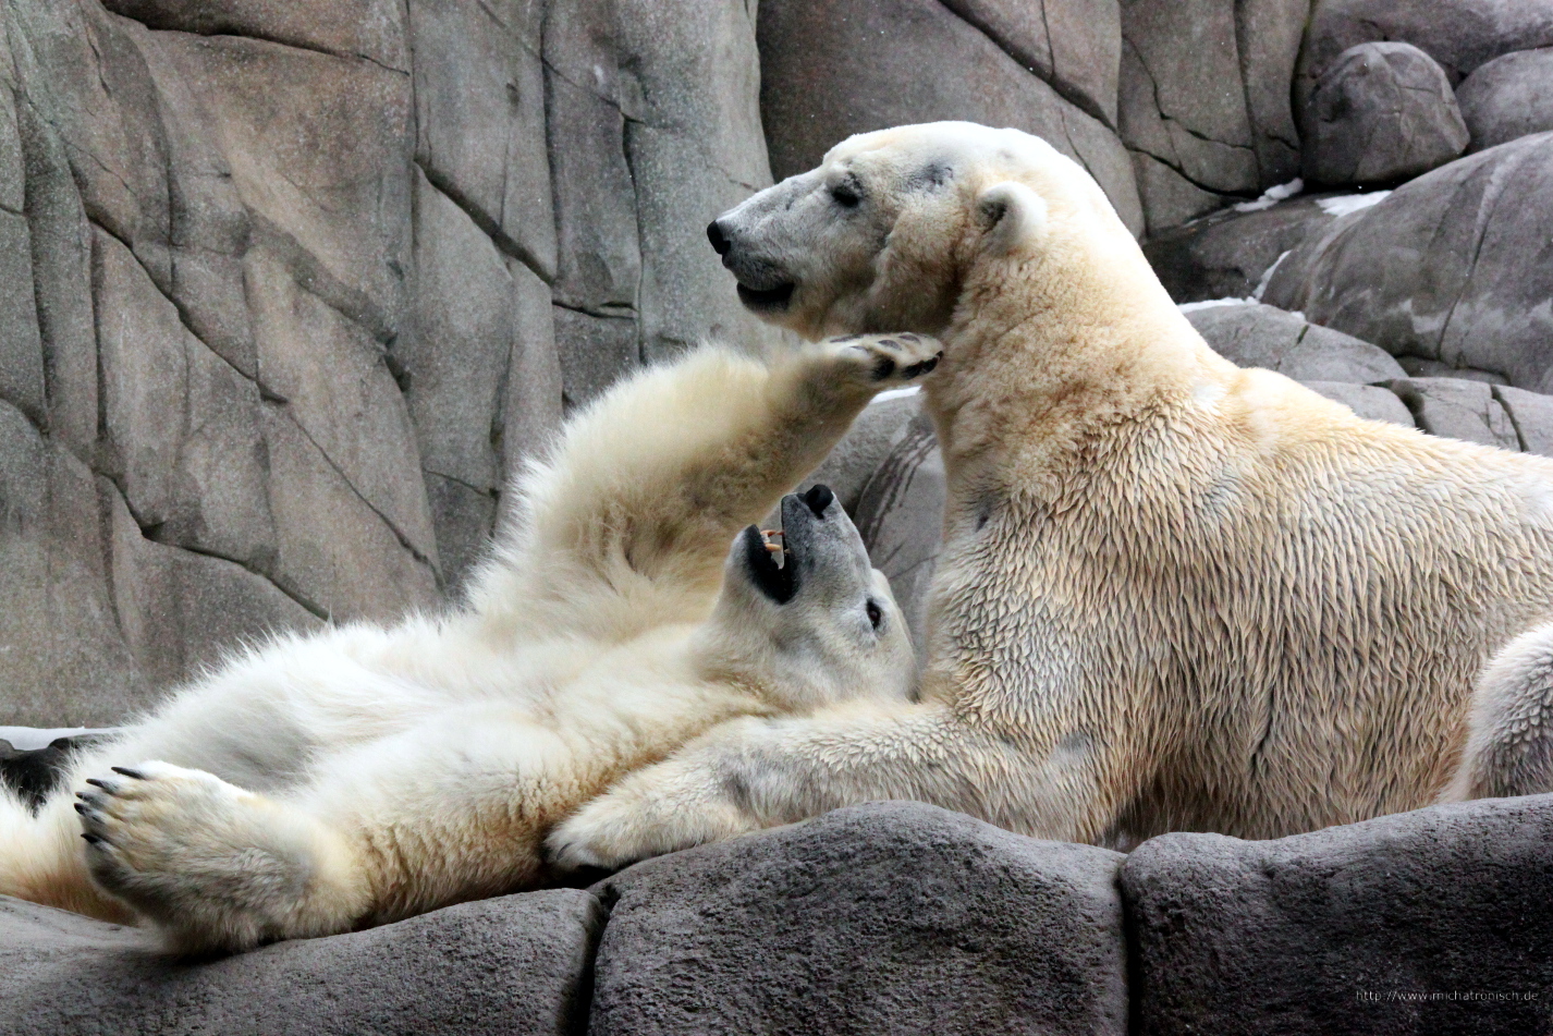
[[[1412,809],[1474,674],[1553,615],[1553,461],[1216,356],[1041,140],[863,134],[708,233],[775,323],[943,339],[927,671],[916,702],[719,727],[558,828],[561,864],[871,798],[1114,845]]]

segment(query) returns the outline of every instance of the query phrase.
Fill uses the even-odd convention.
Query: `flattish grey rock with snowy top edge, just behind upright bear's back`
[[[1204,306],[1186,320],[1224,359],[1295,381],[1367,384],[1405,373],[1385,349],[1273,306]]]

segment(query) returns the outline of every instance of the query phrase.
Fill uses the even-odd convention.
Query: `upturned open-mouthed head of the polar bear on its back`
[[[704,665],[783,711],[909,697],[916,655],[905,617],[836,494],[783,497],[781,525],[780,564],[758,527],[735,539],[700,632]]]

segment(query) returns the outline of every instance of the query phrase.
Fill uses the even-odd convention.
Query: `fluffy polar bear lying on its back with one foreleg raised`
[[[533,885],[558,819],[719,721],[904,699],[905,621],[828,489],[781,500],[781,567],[735,533],[936,353],[704,349],[613,388],[464,607],[252,651],[93,750],[79,801],[0,800],[0,893],[127,904],[180,952],[346,932]]]

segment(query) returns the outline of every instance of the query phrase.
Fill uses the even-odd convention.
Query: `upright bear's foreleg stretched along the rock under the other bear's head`
[[[885,798],[1059,840],[1095,840],[1110,812],[1082,752],[1034,758],[941,704],[859,704],[725,722],[618,781],[545,850],[562,868],[621,867]]]

